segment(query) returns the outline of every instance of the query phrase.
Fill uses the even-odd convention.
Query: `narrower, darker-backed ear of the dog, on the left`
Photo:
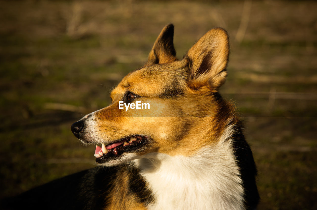
[[[166,25],[154,42],[145,65],[171,63],[177,59],[173,44],[173,36],[174,25]]]

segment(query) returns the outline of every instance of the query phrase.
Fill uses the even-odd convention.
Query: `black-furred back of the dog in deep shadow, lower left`
[[[56,179],[4,199],[3,209],[98,209],[105,206],[118,169],[93,168]]]

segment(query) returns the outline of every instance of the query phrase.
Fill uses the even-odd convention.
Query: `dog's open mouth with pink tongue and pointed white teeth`
[[[96,150],[94,156],[96,157],[96,162],[100,162],[104,158],[118,157],[123,152],[130,152],[139,149],[142,145],[146,143],[147,137],[142,136],[130,136],[111,144],[102,144],[101,147],[96,145]]]

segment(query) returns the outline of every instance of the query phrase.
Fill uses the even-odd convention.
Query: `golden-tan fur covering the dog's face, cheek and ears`
[[[175,55],[170,53],[172,50],[166,51],[166,41],[161,40],[168,27],[163,29],[155,41],[146,65],[124,77],[111,93],[112,104],[95,113],[97,126],[100,127],[98,135],[104,139],[115,140],[141,131],[154,135],[153,146],[146,152],[189,155],[212,143],[210,139],[217,141],[228,120],[227,116],[216,114],[224,105],[229,113],[233,113],[229,104],[219,104],[210,97],[210,93],[216,92],[224,83],[227,75],[225,68],[229,54],[228,36],[221,28],[212,29],[197,41],[183,60],[176,61]],[[169,43],[170,40],[167,44]],[[149,65],[152,66],[148,67]],[[178,84],[173,84],[175,78]],[[183,90],[182,100],[158,97],[164,93],[166,87],[173,85]],[[118,101],[127,91],[141,96],[142,102],[150,103],[151,108],[129,109],[127,112],[118,109]],[[142,115],[155,117],[132,117]],[[158,119],[160,116],[164,116],[164,120]],[[200,116],[205,117],[201,119]],[[186,136],[180,138],[178,133],[185,133],[183,129],[187,130],[188,127],[184,125],[189,121],[191,129],[186,131]],[[204,133],[198,132],[202,127],[207,129]],[[201,139],[195,145],[191,143],[193,136]]]

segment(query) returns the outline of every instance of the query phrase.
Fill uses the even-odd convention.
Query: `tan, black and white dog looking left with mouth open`
[[[252,151],[234,106],[218,93],[227,77],[228,34],[211,29],[183,59],[173,34],[166,25],[145,65],[112,90],[111,104],[71,126],[84,144],[96,145],[99,167],[28,191],[23,206],[256,208]]]

